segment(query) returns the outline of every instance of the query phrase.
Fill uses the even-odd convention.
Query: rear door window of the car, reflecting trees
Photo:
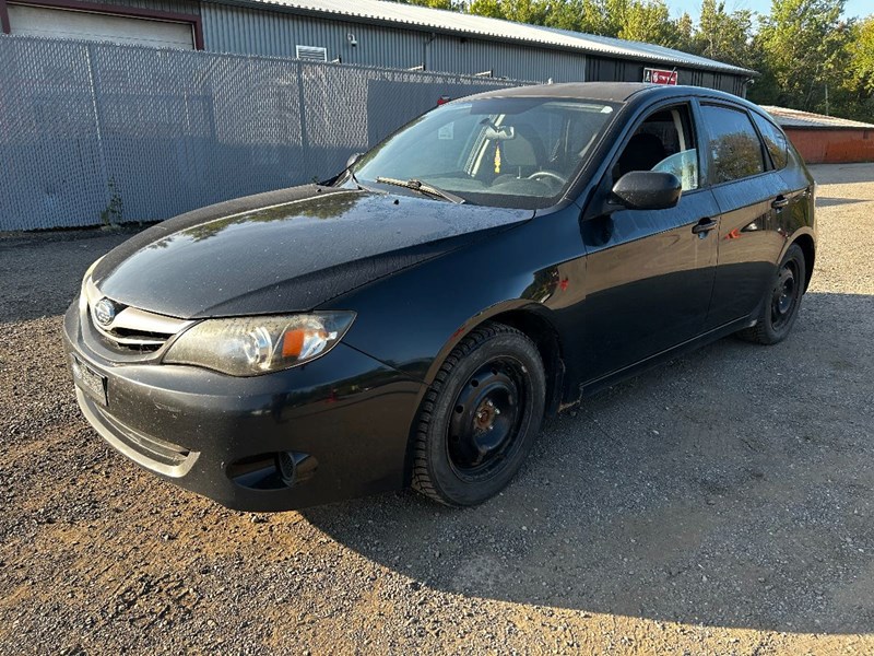
[[[716,105],[705,105],[701,112],[710,136],[714,185],[764,173],[761,142],[745,112]]]

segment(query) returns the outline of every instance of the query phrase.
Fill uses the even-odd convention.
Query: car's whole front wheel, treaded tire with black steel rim
[[[534,343],[503,324],[475,328],[452,350],[425,396],[413,444],[413,488],[445,505],[497,494],[521,467],[545,407]]]

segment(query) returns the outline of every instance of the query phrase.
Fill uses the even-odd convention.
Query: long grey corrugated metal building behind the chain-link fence
[[[653,46],[381,0],[0,0],[7,34],[104,39],[513,80],[643,80],[745,95],[755,73]]]

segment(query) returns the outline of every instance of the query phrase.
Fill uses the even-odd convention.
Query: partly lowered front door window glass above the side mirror
[[[698,150],[688,106],[660,109],[640,124],[613,167],[614,184],[631,171],[673,173],[684,191],[698,188]]]

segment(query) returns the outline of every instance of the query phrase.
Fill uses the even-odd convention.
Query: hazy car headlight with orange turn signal
[[[168,364],[193,364],[232,376],[257,376],[324,355],[343,338],[354,312],[206,319],[170,344]]]

